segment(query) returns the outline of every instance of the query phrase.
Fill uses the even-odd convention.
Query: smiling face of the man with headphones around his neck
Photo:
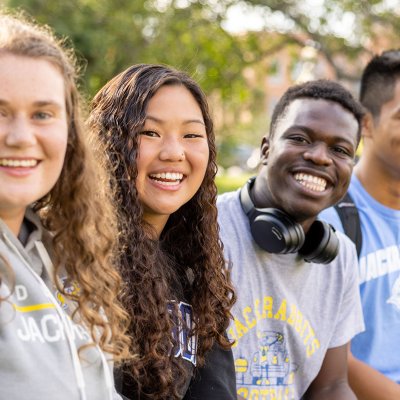
[[[335,204],[350,182],[357,131],[353,114],[335,102],[294,100],[263,142],[256,205],[301,222]]]

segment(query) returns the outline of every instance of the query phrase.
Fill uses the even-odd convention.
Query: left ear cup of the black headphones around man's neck
[[[296,253],[304,244],[304,231],[276,208],[255,208],[249,215],[254,241],[269,253]]]

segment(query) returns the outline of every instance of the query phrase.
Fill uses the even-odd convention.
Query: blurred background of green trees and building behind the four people
[[[1,0],[0,0],[1,1]],[[398,0],[2,0],[69,38],[88,100],[136,63],[188,72],[216,127],[220,192],[255,174],[262,135],[295,82],[336,79],[357,95],[362,67],[400,47]]]

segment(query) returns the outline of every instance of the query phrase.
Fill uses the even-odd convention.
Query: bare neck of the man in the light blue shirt
[[[368,152],[362,155],[354,173],[364,189],[382,205],[400,210],[400,175],[382,165],[377,156]]]

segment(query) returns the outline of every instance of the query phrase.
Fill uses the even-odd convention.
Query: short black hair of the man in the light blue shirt
[[[371,59],[361,76],[360,101],[378,121],[382,105],[392,100],[400,79],[400,49],[387,50]]]

